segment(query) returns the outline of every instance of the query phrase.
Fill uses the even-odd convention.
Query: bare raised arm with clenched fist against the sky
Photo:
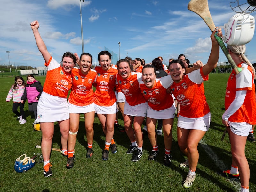
[[[30,23],[31,29],[33,31],[33,34],[35,36],[36,39],[36,45],[38,47],[38,50],[42,53],[44,60],[46,63],[48,63],[48,61],[51,58],[50,53],[48,52],[46,45],[44,44],[44,41],[38,31],[39,28],[39,22],[38,21],[33,21]]]

